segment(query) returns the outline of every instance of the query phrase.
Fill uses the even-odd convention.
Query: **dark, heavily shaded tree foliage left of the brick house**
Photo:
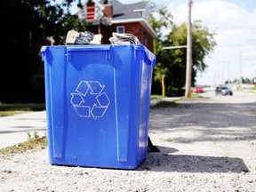
[[[46,37],[52,36],[54,44],[64,44],[70,28],[84,29],[84,23],[69,12],[72,2],[1,1],[1,45],[4,51],[0,60],[0,102],[33,102],[36,94],[44,100],[44,87],[38,89],[44,84],[44,78],[36,76],[44,73],[40,49],[49,44]]]

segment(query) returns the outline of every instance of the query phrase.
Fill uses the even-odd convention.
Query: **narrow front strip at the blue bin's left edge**
[[[65,65],[66,49],[64,47],[48,47],[45,50],[45,99],[47,111],[47,132],[50,161],[62,158],[65,151],[64,105],[65,105]]]

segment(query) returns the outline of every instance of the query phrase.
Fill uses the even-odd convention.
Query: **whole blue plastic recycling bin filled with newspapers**
[[[156,56],[142,44],[43,46],[51,164],[135,169],[148,154]]]

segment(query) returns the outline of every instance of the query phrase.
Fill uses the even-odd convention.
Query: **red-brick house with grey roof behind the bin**
[[[101,34],[101,44],[110,44],[113,32],[137,36],[153,52],[156,33],[148,23],[148,2],[121,4],[117,0],[88,1],[77,13],[80,20],[86,20],[94,34]],[[90,26],[91,25],[91,26]]]

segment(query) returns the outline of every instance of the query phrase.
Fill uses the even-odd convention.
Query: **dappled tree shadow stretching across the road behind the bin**
[[[190,132],[193,138],[170,138],[172,142],[256,140],[256,103],[179,103],[176,108],[150,111],[150,132]]]

